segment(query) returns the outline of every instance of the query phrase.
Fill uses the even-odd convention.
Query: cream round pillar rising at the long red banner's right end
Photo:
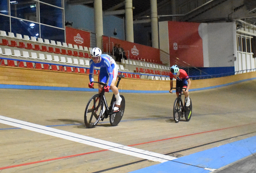
[[[159,46],[158,46],[157,0],[150,0],[150,4],[151,4],[152,47],[159,48]]]

